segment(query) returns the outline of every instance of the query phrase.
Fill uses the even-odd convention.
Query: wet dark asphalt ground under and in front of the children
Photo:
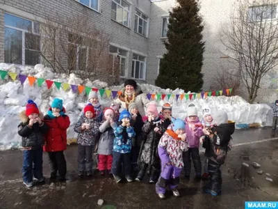
[[[276,135],[275,135],[276,134]],[[235,146],[228,153],[227,162],[222,167],[222,195],[211,196],[202,192],[206,181],[190,180],[181,176],[180,198],[167,192],[167,199],[156,196],[154,185],[148,183],[115,183],[113,178],[99,176],[97,171],[92,178],[79,178],[76,167],[77,146],[70,145],[65,151],[67,160],[67,181],[51,182],[47,154],[44,153],[44,176],[46,183],[27,188],[22,184],[22,151],[6,150],[0,152],[0,208],[102,208],[112,205],[116,208],[244,208],[245,201],[278,200],[278,140],[247,144],[252,141],[277,137],[270,128],[236,130],[233,135]],[[201,157],[203,153],[201,152]],[[250,179],[240,178],[242,162],[250,164]],[[261,164],[256,173],[251,164]],[[258,169],[257,169],[258,170]],[[266,176],[265,173],[270,173]],[[272,178],[273,182],[265,180]],[[98,199],[104,200],[98,206]]]

